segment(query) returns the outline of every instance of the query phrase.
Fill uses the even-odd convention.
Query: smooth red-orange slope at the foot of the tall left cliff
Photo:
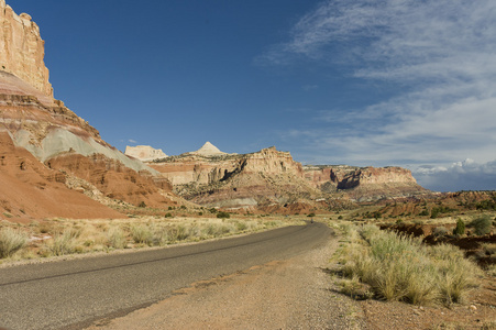
[[[122,218],[123,215],[66,187],[66,176],[49,169],[7,132],[0,132],[0,219]]]

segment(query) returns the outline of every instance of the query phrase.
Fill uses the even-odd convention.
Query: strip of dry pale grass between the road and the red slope
[[[42,223],[32,222],[25,226],[10,223],[8,227],[1,228],[0,257],[12,256],[15,251],[20,250],[22,253],[15,254],[19,255],[18,260],[70,253],[109,252],[117,249],[163,246],[294,223],[295,221],[290,219],[280,221],[245,217],[165,219],[157,216],[91,221],[45,219]],[[27,243],[26,233],[35,238],[30,243]],[[25,248],[23,249],[23,246]]]

